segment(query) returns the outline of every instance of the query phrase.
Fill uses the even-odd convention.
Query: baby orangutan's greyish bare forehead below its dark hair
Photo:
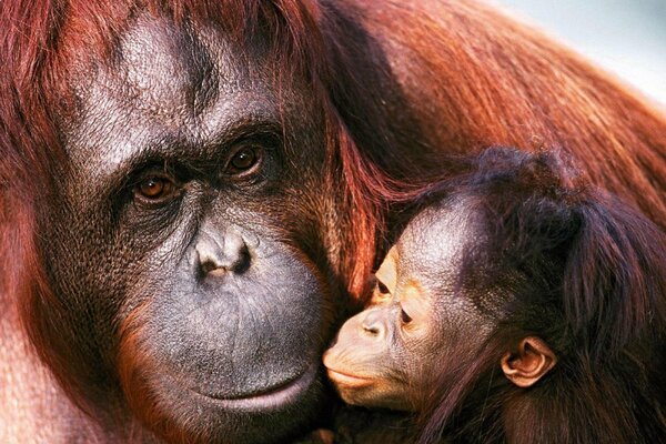
[[[407,224],[396,243],[401,274],[434,276],[445,270],[454,272],[465,248],[477,238],[476,231],[463,202],[425,209]]]

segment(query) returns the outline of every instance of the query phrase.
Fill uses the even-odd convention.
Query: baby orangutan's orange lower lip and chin
[[[413,410],[407,397],[407,387],[397,381],[354,376],[329,369],[329,379],[342,400],[351,405],[364,407]]]

